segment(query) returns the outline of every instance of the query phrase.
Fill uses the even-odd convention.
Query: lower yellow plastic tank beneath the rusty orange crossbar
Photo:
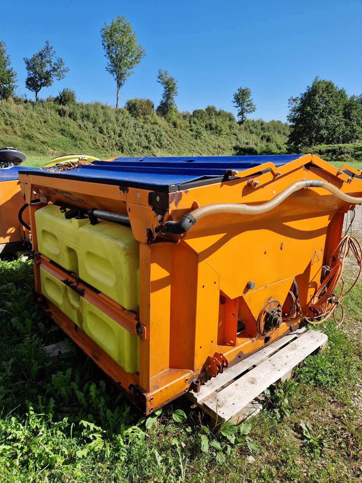
[[[139,338],[92,303],[40,269],[42,293],[61,312],[80,327],[126,372],[139,371]]]

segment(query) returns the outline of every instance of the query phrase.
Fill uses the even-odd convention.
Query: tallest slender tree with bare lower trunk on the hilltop
[[[108,58],[106,71],[117,83],[118,108],[119,89],[125,84],[127,77],[133,74],[132,69],[146,56],[146,52],[137,42],[136,32],[132,31],[131,24],[121,15],[113,18],[111,25],[105,22],[100,33],[104,57]]]

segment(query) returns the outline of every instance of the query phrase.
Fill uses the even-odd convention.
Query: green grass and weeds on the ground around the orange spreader
[[[0,262],[0,480],[4,482],[357,482],[362,428],[361,287],[329,344],[270,388],[267,409],[212,433],[178,399],[144,419],[79,350],[51,362],[64,335],[34,304],[31,262]],[[360,404],[362,396],[359,394]]]

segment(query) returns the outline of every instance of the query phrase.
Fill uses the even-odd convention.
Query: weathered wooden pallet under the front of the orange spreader
[[[323,350],[328,337],[315,330],[298,329],[255,354],[227,368],[187,397],[211,416],[214,424],[244,421],[260,411],[257,398],[267,387],[291,377],[292,369],[317,350]]]

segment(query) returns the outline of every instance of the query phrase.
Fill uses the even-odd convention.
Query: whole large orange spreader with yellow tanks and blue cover
[[[306,321],[339,323],[348,250],[361,270],[342,235],[361,173],[317,156],[117,158],[19,179],[39,305],[146,414]]]

